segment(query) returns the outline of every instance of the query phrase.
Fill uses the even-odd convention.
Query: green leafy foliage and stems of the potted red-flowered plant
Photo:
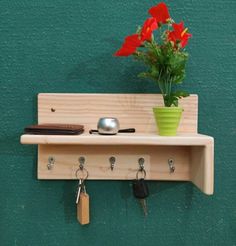
[[[147,65],[147,71],[140,73],[141,78],[149,78],[157,82],[165,106],[178,106],[178,100],[189,94],[184,91],[171,92],[173,84],[180,84],[185,78],[185,68],[188,54],[183,50],[176,50],[166,39],[157,43],[144,42],[135,52],[134,58]]]

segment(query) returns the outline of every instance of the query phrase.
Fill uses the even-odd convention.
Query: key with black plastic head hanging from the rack
[[[146,181],[142,179],[135,179],[133,181],[133,194],[139,199],[140,204],[143,208],[144,215],[147,215],[147,203],[146,198],[149,196],[149,189]]]

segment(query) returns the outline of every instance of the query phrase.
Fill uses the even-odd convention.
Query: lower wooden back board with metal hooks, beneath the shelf
[[[48,170],[48,157],[55,159],[54,167]],[[40,145],[38,155],[39,179],[76,179],[79,168],[78,159],[85,158],[84,167],[88,179],[132,180],[139,169],[139,158],[144,158],[147,180],[190,180],[190,147],[187,146],[101,146],[90,145]],[[114,170],[110,168],[109,158],[116,158]],[[168,159],[175,162],[176,170],[170,173]]]

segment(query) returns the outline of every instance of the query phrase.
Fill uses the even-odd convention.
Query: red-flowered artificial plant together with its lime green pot
[[[189,94],[173,91],[173,85],[181,84],[185,78],[188,53],[185,46],[192,36],[184,22],[175,23],[164,2],[149,9],[148,18],[135,34],[125,38],[115,56],[130,56],[144,62],[148,70],[139,77],[154,80],[163,97],[164,107],[154,107],[153,112],[162,136],[176,135],[183,109],[178,101]],[[154,31],[155,33],[154,36]]]

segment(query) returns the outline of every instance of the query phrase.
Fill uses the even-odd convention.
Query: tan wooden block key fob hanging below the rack
[[[81,192],[77,204],[77,219],[81,225],[89,224],[89,195]]]

